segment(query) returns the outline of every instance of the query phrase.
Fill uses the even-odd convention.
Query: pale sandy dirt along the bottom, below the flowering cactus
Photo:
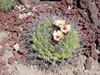
[[[11,51],[6,51],[2,60],[8,62],[8,58],[13,57]],[[9,67],[7,71],[12,73],[13,75],[99,75],[100,74],[100,66],[97,61],[90,57],[91,60],[91,69],[86,70],[84,64],[86,62],[87,57],[79,54],[79,57],[74,58],[74,63],[67,63],[66,66],[58,69],[56,73],[50,70],[41,70],[38,69],[35,65],[25,65],[22,62],[15,61],[12,65],[6,63],[6,66]],[[3,71],[2,71],[3,72]]]

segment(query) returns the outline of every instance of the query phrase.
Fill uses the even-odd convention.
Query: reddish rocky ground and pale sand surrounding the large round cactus
[[[22,3],[24,4],[24,3]],[[40,14],[65,16],[75,24],[83,39],[81,53],[56,72],[25,65],[28,59],[24,32]],[[100,1],[62,0],[32,4],[25,8],[19,2],[9,13],[0,12],[0,75],[100,75]]]

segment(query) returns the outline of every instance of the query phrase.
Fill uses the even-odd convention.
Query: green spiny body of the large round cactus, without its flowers
[[[51,63],[70,58],[79,46],[78,32],[74,28],[59,42],[55,42],[52,39],[52,33],[56,29],[53,22],[53,19],[41,20],[34,25],[32,34],[32,48],[36,55]]]

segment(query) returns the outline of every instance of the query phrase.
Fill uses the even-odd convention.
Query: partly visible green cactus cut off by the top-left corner
[[[0,0],[0,11],[8,12],[15,5],[15,0]]]

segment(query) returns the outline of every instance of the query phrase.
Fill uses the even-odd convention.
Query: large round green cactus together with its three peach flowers
[[[43,18],[31,28],[33,54],[50,63],[70,58],[79,47],[78,31],[66,25],[64,20],[57,21],[50,17]],[[58,26],[60,23],[62,26]],[[56,26],[60,29],[55,30]]]

